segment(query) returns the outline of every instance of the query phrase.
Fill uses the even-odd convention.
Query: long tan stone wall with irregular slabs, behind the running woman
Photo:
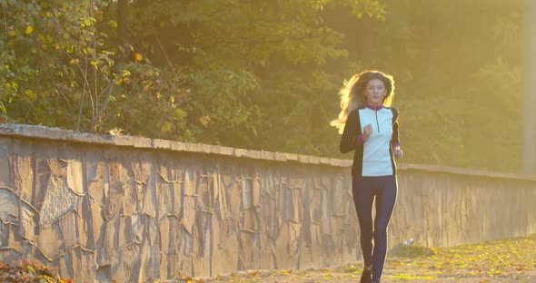
[[[351,161],[0,124],[0,260],[144,282],[361,260]],[[401,165],[390,247],[536,232],[536,178]]]

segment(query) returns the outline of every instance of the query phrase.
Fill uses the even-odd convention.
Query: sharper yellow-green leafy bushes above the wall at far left
[[[118,105],[125,97],[140,99],[145,110],[172,112],[172,103],[157,93],[169,88],[160,70],[141,54],[125,60],[125,48],[132,46],[105,33],[115,24],[104,19],[103,5],[108,3],[1,1],[0,95],[15,122],[105,132],[133,110]]]

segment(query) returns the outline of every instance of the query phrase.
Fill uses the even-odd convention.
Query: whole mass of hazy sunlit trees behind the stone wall
[[[521,0],[0,5],[7,121],[350,158],[338,90],[381,69],[404,162],[521,168]]]

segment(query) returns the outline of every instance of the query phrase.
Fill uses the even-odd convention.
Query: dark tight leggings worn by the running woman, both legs
[[[361,229],[361,249],[365,266],[372,265],[374,282],[382,277],[387,254],[387,224],[396,201],[397,181],[394,175],[352,178],[353,203]],[[376,215],[372,230],[372,202]],[[372,251],[372,238],[374,239]]]

